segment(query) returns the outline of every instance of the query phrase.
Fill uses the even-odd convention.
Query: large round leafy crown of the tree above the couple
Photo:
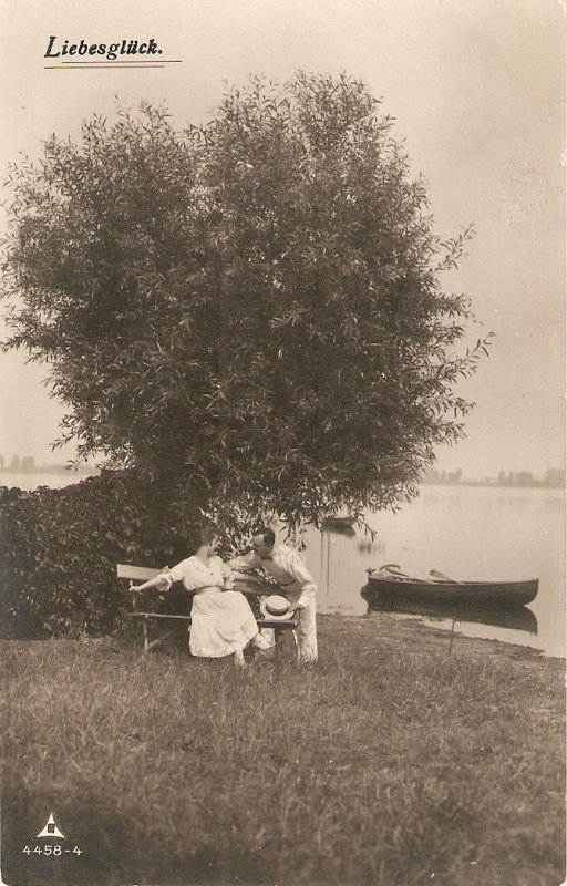
[[[9,347],[80,456],[288,524],[415,494],[463,434],[470,302],[392,120],[346,75],[252,78],[206,125],[94,117],[10,171]],[[461,352],[458,350],[461,349]]]

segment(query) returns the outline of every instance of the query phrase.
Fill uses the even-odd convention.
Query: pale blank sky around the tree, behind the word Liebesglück
[[[450,285],[473,298],[496,338],[462,388],[476,402],[468,437],[439,451],[467,477],[501,468],[536,475],[564,463],[565,35],[558,0],[0,0],[3,84],[0,166],[39,157],[51,133],[74,137],[93,112],[165,102],[198,123],[225,81],[279,81],[298,69],[362,78],[415,173],[443,237],[474,222],[477,237]],[[50,35],[91,43],[153,38],[153,70],[44,70]],[[102,58],[102,56],[100,56]],[[0,219],[3,229],[4,222]],[[1,308],[1,306],[0,306]],[[3,308],[1,308],[3,310]],[[0,356],[0,454],[53,454],[63,408],[45,370]]]

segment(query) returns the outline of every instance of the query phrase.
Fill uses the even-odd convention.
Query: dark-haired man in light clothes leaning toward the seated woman
[[[317,661],[317,585],[299,553],[289,545],[276,545],[274,530],[261,526],[252,534],[251,552],[230,560],[230,566],[236,578],[259,568],[271,575],[278,584],[278,594],[289,600],[289,611],[299,616],[296,632],[299,659]]]

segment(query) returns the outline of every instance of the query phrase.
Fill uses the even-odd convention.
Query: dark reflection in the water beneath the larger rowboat
[[[512,628],[537,635],[537,618],[527,606],[498,606],[497,604],[475,605],[439,600],[394,600],[384,598],[371,585],[360,590],[368,605],[369,612],[401,612],[405,615],[425,616],[433,619],[493,625],[498,628]]]

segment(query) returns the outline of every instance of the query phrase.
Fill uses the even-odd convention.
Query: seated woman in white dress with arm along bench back
[[[244,664],[244,648],[251,641],[258,649],[269,641],[258,631],[248,600],[233,590],[235,579],[229,566],[216,555],[218,536],[214,527],[203,529],[193,557],[182,560],[155,578],[137,585],[136,590],[168,590],[174,581],[183,581],[194,591],[190,610],[189,651],[203,658],[234,655],[236,664]]]

